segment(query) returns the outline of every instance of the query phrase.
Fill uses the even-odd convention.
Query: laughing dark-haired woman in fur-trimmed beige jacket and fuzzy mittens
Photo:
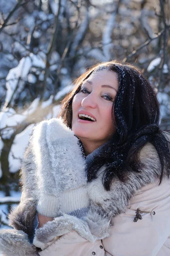
[[[21,203],[10,215],[16,230],[0,233],[3,252],[169,255],[169,134],[159,130],[149,82],[130,64],[101,63],[62,103],[63,121],[34,129]]]

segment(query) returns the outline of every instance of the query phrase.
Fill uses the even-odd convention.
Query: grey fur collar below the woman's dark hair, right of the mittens
[[[102,172],[105,169],[105,166],[102,166],[98,172],[98,177],[88,184],[91,204],[96,206],[93,207],[93,211],[100,207],[102,212],[108,215],[108,219],[111,219],[117,214],[125,212],[130,198],[142,186],[158,180],[158,177],[161,175],[161,164],[157,151],[152,144],[147,143],[142,148],[139,153],[139,159],[142,163],[140,172],[127,173],[125,182],[114,178],[110,191],[106,191],[102,186]]]

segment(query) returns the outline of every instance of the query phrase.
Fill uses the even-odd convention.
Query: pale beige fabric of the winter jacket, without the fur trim
[[[142,220],[134,222],[136,210]],[[153,212],[155,211],[155,215]],[[149,212],[149,213],[146,213]],[[48,244],[47,244],[48,246]],[[114,218],[111,236],[94,244],[71,231],[40,256],[170,256],[170,180],[144,186],[130,200],[125,213]]]

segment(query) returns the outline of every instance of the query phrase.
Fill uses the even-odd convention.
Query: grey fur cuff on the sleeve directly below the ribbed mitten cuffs
[[[91,211],[89,211],[88,218],[84,220],[64,214],[37,229],[34,239],[46,244],[56,236],[62,236],[71,230],[77,231],[84,239],[94,243],[97,239],[109,236],[110,221],[106,216],[100,216],[97,212],[94,214]]]

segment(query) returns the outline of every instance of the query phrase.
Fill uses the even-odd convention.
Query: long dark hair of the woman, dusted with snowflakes
[[[75,81],[74,89],[62,100],[63,109],[60,116],[71,128],[73,98],[79,92],[82,82],[99,70],[113,71],[118,75],[119,89],[112,108],[116,132],[106,144],[104,151],[107,154],[96,156],[88,169],[88,181],[96,178],[98,169],[104,163],[107,166],[103,176],[105,189],[110,189],[111,180],[115,175],[120,180],[125,180],[124,174],[127,170],[138,171],[140,165],[138,152],[145,143],[150,142],[155,146],[160,158],[161,182],[164,166],[168,170],[170,167],[169,144],[164,133],[159,129],[159,102],[154,89],[137,67],[121,61],[94,65]]]

